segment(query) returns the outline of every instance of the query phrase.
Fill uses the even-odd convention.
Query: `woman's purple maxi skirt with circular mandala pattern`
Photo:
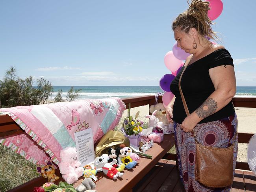
[[[192,137],[192,133],[183,132],[180,126],[181,124],[174,122],[177,162],[180,178],[185,190],[187,192],[229,192],[231,186],[225,188],[210,188],[202,186],[195,181],[195,139]],[[196,138],[202,145],[219,148],[227,148],[232,144],[236,130],[236,113],[220,120],[197,124],[194,128]],[[235,174],[236,157],[237,137],[234,144],[233,178]]]

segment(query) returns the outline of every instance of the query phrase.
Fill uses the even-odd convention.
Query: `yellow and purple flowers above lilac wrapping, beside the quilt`
[[[138,116],[139,111],[136,113],[135,118],[133,118],[130,116],[130,109],[128,109],[128,116],[124,118],[123,122],[123,129],[126,135],[138,135],[142,131],[144,122],[138,120]]]

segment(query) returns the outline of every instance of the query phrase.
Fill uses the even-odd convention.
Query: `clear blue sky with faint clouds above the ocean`
[[[214,20],[234,59],[237,86],[256,86],[255,0],[223,0]],[[10,66],[21,78],[54,86],[159,85],[171,73],[164,55],[171,24],[187,0],[1,0],[0,79]]]

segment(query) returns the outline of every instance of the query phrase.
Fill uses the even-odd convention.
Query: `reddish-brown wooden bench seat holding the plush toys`
[[[96,188],[98,192],[105,192],[106,187],[107,191],[120,191],[127,192],[131,191],[132,188],[140,181],[158,162],[161,158],[170,150],[172,146],[174,146],[174,135],[164,135],[163,142],[154,143],[154,146],[150,148],[145,153],[152,155],[152,159],[147,159],[141,157],[138,161],[138,164],[131,170],[124,170],[124,175],[122,178],[118,178],[117,180],[113,180],[108,178],[102,172],[97,173],[98,180],[96,181]],[[56,175],[59,177],[59,171],[57,170]],[[74,183],[74,187],[81,184],[84,177],[80,177],[76,183]],[[64,181],[62,178],[56,181]],[[17,191],[33,191],[34,186],[42,186],[47,182],[46,178],[38,177],[36,179],[31,180],[30,182],[24,183],[23,185],[17,186],[9,192],[17,192]],[[107,184],[107,186],[106,186]]]

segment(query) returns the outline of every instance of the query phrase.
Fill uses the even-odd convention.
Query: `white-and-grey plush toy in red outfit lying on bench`
[[[96,157],[94,160],[94,166],[96,170],[102,171],[105,175],[107,175],[111,179],[117,179],[117,177],[122,177],[124,173],[120,173],[116,168],[112,165],[117,163],[116,159],[113,159],[111,163],[108,163],[108,155]]]

